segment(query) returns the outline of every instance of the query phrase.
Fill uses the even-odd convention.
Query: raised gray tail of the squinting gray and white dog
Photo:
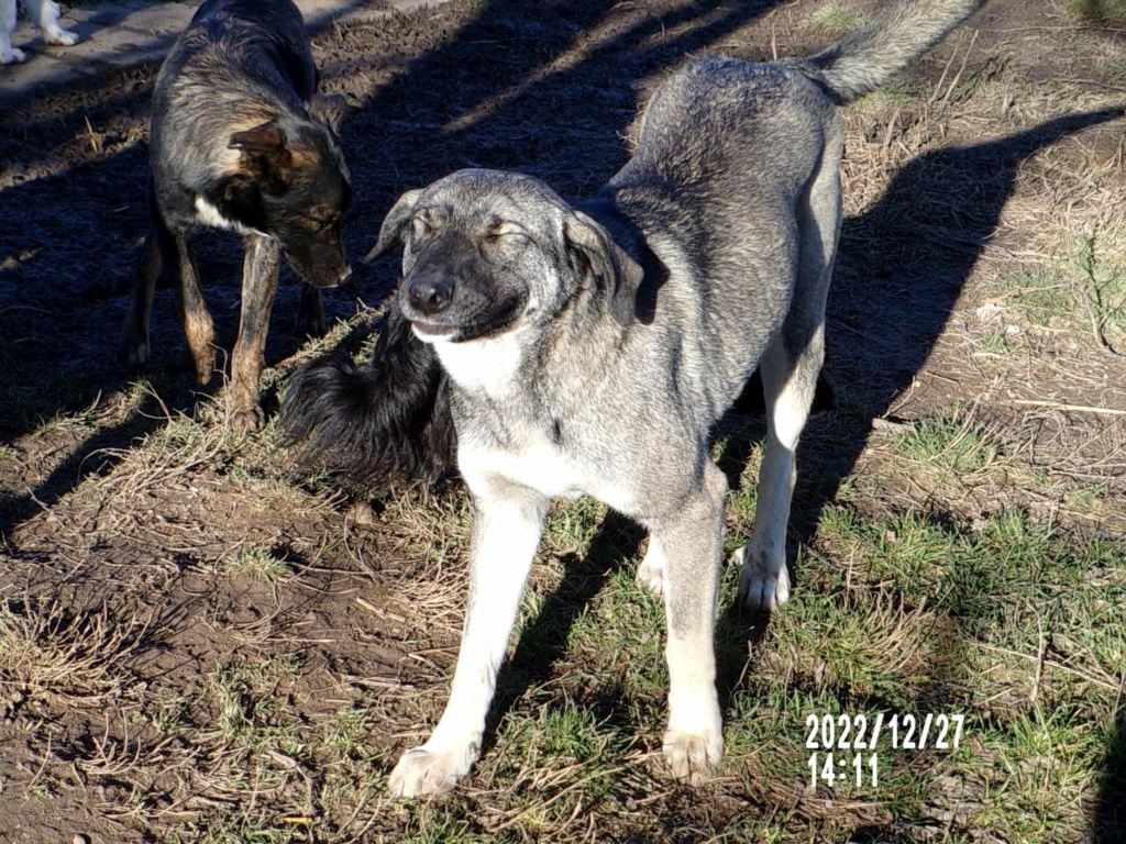
[[[808,59],[787,62],[838,104],[891,82],[985,0],[899,0],[857,33]]]

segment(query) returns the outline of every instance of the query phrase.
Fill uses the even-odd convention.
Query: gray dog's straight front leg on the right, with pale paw
[[[699,487],[674,514],[650,523],[663,557],[669,639],[669,727],[664,757],[672,775],[698,785],[723,760],[723,717],[715,690],[715,607],[723,556],[727,478],[707,460]],[[650,546],[652,554],[652,546]],[[646,555],[647,557],[649,555]]]

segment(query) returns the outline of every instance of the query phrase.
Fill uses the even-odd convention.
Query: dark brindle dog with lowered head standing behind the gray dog
[[[258,380],[283,254],[302,286],[298,329],[324,333],[318,288],[351,270],[340,221],[351,194],[337,142],[340,97],[315,95],[316,68],[291,0],[207,0],[172,46],[153,91],[151,227],[133,279],[122,356],[149,361],[149,313],[161,264],[173,277],[196,377],[211,379],[215,330],[196,271],[199,226],[244,245],[242,320],[231,363],[231,416],[265,422]]]

